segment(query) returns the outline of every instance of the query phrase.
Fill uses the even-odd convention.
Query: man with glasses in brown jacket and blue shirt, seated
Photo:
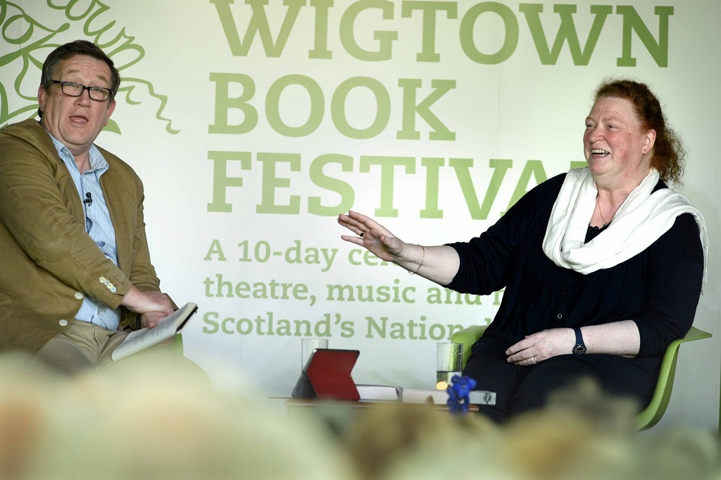
[[[97,46],[61,45],[43,64],[40,121],[0,131],[0,351],[64,372],[110,365],[127,331],[174,309],[150,261],[141,180],[93,143],[119,85]]]

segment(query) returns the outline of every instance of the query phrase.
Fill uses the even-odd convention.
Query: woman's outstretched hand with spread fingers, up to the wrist
[[[384,261],[394,262],[402,257],[405,247],[403,240],[394,236],[371,217],[366,217],[357,211],[349,211],[347,215],[338,215],[338,223],[353,232],[353,235],[340,236],[346,242],[365,247]]]

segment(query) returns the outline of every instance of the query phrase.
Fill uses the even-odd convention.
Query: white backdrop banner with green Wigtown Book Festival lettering
[[[720,69],[696,41],[718,38],[719,10],[715,0],[0,0],[0,125],[34,115],[56,45],[94,41],[123,77],[97,143],[143,178],[164,291],[200,307],[187,356],[218,384],[252,378],[283,396],[301,338],[321,337],[361,351],[357,383],[430,388],[435,342],[490,321],[503,292],[410,276],[342,242],[335,217],[361,211],[424,245],[479,235],[536,184],[584,165],[584,119],[609,76],[650,84],[698,172],[714,150],[696,139],[709,127],[692,99]]]

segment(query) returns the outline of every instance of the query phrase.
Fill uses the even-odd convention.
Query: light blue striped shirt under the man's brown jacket
[[[68,172],[70,172],[70,176],[75,183],[80,201],[83,202],[85,231],[94,240],[102,253],[105,253],[105,256],[110,258],[112,263],[118,265],[118,246],[115,245],[115,230],[112,228],[110,211],[107,209],[105,196],[103,196],[102,188],[100,188],[100,176],[107,171],[110,165],[107,165],[107,161],[102,157],[97,147],[92,145],[89,152],[90,170],[80,173],[78,166],[75,165],[75,158],[68,147],[52,135],[50,135],[50,139],[53,139],[58,155],[68,167]],[[87,196],[87,193],[90,193],[90,197]],[[85,203],[86,198],[92,198],[92,202]],[[75,319],[94,323],[108,330],[118,330],[120,307],[111,310],[105,304],[86,294],[80,310],[75,315]]]

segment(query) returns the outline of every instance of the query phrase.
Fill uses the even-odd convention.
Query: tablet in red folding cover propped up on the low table
[[[358,388],[350,376],[358,350],[315,349],[298,378],[292,396],[295,398],[328,398],[360,400]]]

